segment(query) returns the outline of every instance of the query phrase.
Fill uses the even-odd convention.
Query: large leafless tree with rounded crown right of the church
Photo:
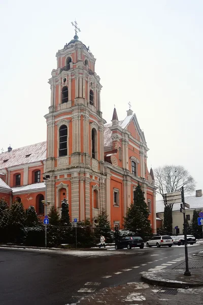
[[[161,194],[180,191],[184,187],[185,193],[195,189],[195,180],[188,170],[181,165],[164,165],[154,170],[157,192]]]

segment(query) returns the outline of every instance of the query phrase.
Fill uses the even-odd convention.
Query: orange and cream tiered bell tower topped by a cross
[[[49,79],[47,120],[47,198],[60,212],[66,197],[72,220],[95,219],[105,208],[104,124],[100,78],[95,58],[75,36],[56,53],[57,69]]]

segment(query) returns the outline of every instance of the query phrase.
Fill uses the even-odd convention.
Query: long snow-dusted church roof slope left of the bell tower
[[[46,160],[47,142],[40,142],[0,154],[0,169]]]

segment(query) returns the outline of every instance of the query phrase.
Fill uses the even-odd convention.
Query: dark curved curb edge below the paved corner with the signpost
[[[171,287],[171,288],[187,288],[187,287],[198,287],[203,286],[203,283],[174,283],[170,281],[160,281],[160,280],[150,280],[149,278],[146,278],[144,275],[142,275],[143,282],[154,285],[154,286],[165,286],[165,287]]]

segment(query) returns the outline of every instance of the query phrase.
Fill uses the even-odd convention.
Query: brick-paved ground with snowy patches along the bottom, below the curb
[[[67,305],[201,305],[202,298],[203,288],[176,289],[127,283],[101,289],[77,303]]]

